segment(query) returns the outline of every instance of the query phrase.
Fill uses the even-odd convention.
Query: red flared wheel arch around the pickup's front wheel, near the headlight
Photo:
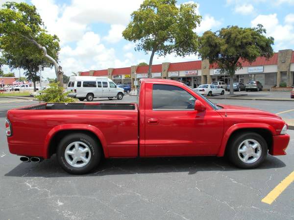
[[[260,134],[268,144],[269,151],[272,148],[272,136],[276,135],[274,128],[268,124],[263,123],[241,123],[231,126],[223,135],[221,147],[217,156],[223,156],[226,151],[226,146],[235,135],[242,132],[256,132]]]

